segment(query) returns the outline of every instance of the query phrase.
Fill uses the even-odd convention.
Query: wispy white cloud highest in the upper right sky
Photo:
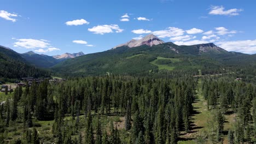
[[[243,11],[242,9],[229,9],[229,10],[224,10],[225,8],[221,6],[212,6],[211,11],[209,14],[211,15],[230,15],[230,16],[235,16],[239,15],[239,12]]]

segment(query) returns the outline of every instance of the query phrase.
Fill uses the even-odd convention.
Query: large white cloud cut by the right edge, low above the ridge
[[[216,44],[227,51],[236,51],[236,52],[242,52],[242,53],[248,53],[248,54],[256,53],[256,39],[255,40],[237,40],[237,41],[219,41]]]

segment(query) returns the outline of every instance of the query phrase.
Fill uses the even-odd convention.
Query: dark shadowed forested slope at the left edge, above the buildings
[[[0,81],[14,81],[21,77],[49,77],[48,71],[30,65],[20,53],[0,46]]]

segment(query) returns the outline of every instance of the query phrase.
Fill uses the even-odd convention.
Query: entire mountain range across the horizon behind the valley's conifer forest
[[[213,43],[179,46],[165,43],[153,34],[88,55],[78,52],[47,56],[32,51],[20,54],[3,46],[0,47],[0,54],[67,76],[148,74],[162,70],[223,70],[256,63],[256,55],[228,52]]]

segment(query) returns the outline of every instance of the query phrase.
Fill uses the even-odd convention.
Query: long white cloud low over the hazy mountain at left
[[[45,48],[48,47],[50,44],[46,43],[42,40],[36,40],[36,39],[17,39],[18,41],[14,43],[16,47],[25,47],[26,49],[34,49],[36,47],[38,48]]]

